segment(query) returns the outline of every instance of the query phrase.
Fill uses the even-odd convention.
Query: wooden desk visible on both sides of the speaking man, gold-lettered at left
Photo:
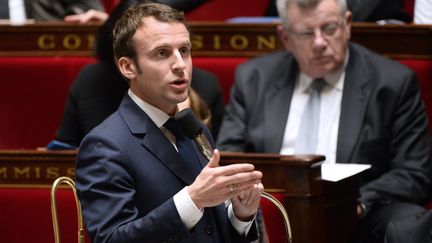
[[[46,187],[74,177],[75,151],[0,150],[0,187]],[[357,178],[321,180],[322,156],[221,153],[222,164],[253,163],[268,192],[282,193],[294,243],[345,243],[356,223]],[[269,223],[268,227],[271,227]]]

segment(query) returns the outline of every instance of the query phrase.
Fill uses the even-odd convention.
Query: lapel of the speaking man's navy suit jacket
[[[192,184],[195,175],[183,165],[180,155],[154,122],[129,97],[123,98],[119,112],[125,119],[131,133],[140,137],[141,144],[163,163],[186,185]]]

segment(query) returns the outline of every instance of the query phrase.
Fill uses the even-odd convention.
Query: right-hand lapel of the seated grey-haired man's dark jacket
[[[350,45],[341,103],[336,162],[348,163],[351,160],[370,94],[368,79],[362,56]]]

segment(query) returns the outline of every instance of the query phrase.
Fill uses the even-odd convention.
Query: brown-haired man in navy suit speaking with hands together
[[[258,237],[254,218],[262,173],[251,164],[218,166],[217,150],[208,162],[170,126],[177,104],[188,97],[192,74],[183,21],[181,12],[166,5],[139,4],[114,28],[118,68],[130,88],[119,109],[84,138],[76,165],[94,243],[234,243]]]

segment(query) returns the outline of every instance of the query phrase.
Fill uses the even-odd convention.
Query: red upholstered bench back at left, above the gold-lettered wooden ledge
[[[34,149],[51,141],[69,86],[90,57],[0,58],[0,149]]]

